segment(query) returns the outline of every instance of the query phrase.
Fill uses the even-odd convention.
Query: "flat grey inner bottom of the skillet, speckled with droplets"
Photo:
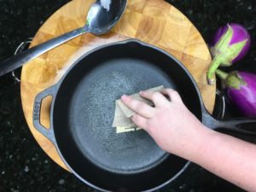
[[[111,126],[116,99],[161,84],[172,87],[166,74],[148,61],[130,58],[105,61],[81,79],[69,110],[81,151],[113,172],[138,172],[160,163],[165,152],[145,131],[116,134]]]

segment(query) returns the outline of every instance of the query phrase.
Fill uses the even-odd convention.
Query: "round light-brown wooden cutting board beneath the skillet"
[[[57,10],[38,30],[32,46],[84,26],[94,0],[73,0]],[[102,37],[84,34],[27,63],[21,73],[21,100],[27,124],[41,148],[57,164],[67,169],[52,143],[32,125],[35,96],[60,79],[80,55],[102,44],[137,38],[176,56],[189,69],[198,84],[209,112],[215,101],[215,86],[207,85],[206,72],[211,62],[207,44],[195,26],[179,10],[164,0],[129,0],[125,14],[111,32]],[[182,78],[182,77],[181,77]],[[51,98],[44,99],[41,123],[49,127]],[[67,169],[68,170],[68,169]]]

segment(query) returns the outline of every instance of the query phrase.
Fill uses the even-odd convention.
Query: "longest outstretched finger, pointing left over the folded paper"
[[[152,118],[154,116],[154,108],[150,107],[148,104],[132,99],[131,96],[121,96],[121,99],[125,105],[144,118]]]

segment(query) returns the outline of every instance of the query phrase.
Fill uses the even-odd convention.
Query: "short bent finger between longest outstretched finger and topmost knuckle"
[[[162,107],[166,106],[166,103],[168,102],[166,97],[160,94],[160,92],[154,92],[154,91],[141,91],[140,95],[144,98],[151,100],[154,102],[154,105],[156,107]]]

